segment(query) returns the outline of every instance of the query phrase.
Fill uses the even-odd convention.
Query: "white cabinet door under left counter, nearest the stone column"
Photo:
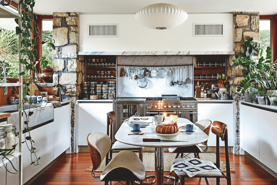
[[[70,147],[70,105],[54,109],[54,159]]]

